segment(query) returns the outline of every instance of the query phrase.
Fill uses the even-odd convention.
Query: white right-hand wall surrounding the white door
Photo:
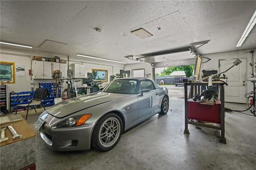
[[[242,50],[239,50],[239,51],[201,55],[201,57],[207,57],[207,58],[211,59],[207,63],[202,63],[201,72],[203,69],[215,69],[215,70],[219,71],[219,60],[220,59],[246,58],[247,59],[247,78],[250,78],[252,72],[251,72],[251,66],[250,66],[251,53],[249,53],[249,51],[250,50],[245,50],[245,53],[243,53]],[[254,49],[254,51],[256,52],[256,49]],[[232,69],[236,69],[236,67],[234,67]],[[244,68],[244,69],[246,69],[246,68]],[[229,70],[229,71],[232,71],[232,70]],[[254,68],[254,71],[255,71],[255,68]],[[253,90],[253,84],[247,80],[247,92],[250,92],[252,90]]]

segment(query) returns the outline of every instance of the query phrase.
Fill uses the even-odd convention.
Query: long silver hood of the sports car
[[[102,103],[125,98],[126,96],[129,96],[129,94],[97,92],[88,95],[82,95],[77,98],[62,101],[52,106],[47,110],[47,112],[55,117],[61,118],[83,109],[100,105]]]

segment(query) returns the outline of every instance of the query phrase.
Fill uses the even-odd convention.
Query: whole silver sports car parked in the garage
[[[122,133],[156,113],[166,114],[168,91],[147,78],[122,78],[96,93],[60,102],[35,127],[53,150],[109,151]]]

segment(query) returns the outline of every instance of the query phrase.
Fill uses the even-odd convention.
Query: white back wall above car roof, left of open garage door
[[[124,66],[124,70],[130,70],[131,76],[132,76],[132,70],[133,69],[145,69],[145,77],[148,76],[148,78],[152,79],[152,66],[149,63],[135,63],[135,64],[127,64]],[[150,74],[150,75],[149,75]]]

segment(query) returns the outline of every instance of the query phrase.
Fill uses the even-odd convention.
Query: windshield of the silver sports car
[[[136,87],[136,80],[114,80],[108,86],[106,86],[106,88],[103,91],[122,94],[134,94],[136,92]]]

